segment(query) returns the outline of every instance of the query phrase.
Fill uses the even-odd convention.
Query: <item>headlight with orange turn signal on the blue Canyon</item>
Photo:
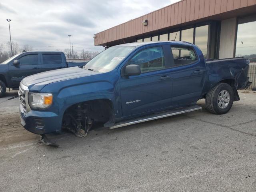
[[[31,108],[48,108],[52,105],[52,93],[28,93]]]

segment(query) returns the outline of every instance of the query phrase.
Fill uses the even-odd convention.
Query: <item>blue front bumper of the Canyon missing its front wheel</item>
[[[26,113],[20,106],[20,123],[22,126],[35,134],[48,134],[60,132],[62,118],[53,112],[33,111]]]

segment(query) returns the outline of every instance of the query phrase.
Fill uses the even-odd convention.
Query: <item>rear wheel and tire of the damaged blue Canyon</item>
[[[227,83],[218,83],[207,94],[206,108],[214,114],[225,114],[234,102],[234,90]]]

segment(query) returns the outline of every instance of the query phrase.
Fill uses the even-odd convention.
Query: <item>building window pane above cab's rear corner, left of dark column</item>
[[[196,27],[195,44],[201,49],[204,57],[207,56],[208,25]]]

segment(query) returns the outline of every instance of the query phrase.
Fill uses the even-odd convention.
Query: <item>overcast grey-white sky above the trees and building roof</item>
[[[64,50],[72,35],[74,50],[103,50],[93,34],[179,0],[1,0],[0,43],[12,40],[34,50]]]

